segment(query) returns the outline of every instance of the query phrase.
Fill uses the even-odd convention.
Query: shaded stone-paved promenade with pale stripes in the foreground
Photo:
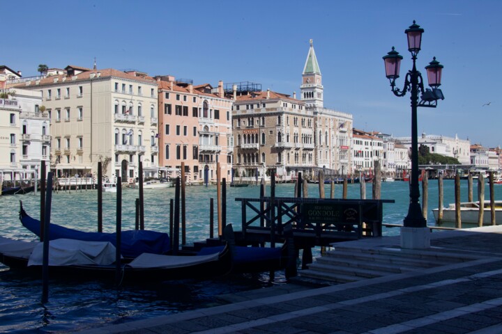
[[[347,242],[397,249],[400,239]],[[439,260],[466,260],[355,283],[291,283],[221,296],[213,308],[81,333],[502,333],[502,226],[434,232],[431,245],[427,252]]]

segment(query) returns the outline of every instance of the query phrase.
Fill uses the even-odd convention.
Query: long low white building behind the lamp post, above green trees
[[[396,141],[411,148],[411,137],[397,137]],[[452,138],[423,133],[418,138],[418,145],[426,145],[431,153],[456,158],[462,165],[471,164],[471,142],[469,139],[460,139],[457,135]]]

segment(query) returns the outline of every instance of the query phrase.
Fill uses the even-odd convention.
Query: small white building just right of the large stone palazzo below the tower
[[[353,170],[358,175],[372,175],[374,161],[380,161],[380,166],[383,166],[383,139],[359,129],[352,129],[352,132]],[[383,173],[383,168],[381,170]]]

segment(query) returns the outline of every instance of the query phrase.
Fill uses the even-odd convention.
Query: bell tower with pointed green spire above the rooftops
[[[317,63],[314,45],[310,40],[310,49],[303,67],[302,84],[300,86],[301,100],[305,101],[306,108],[323,107],[322,75]]]

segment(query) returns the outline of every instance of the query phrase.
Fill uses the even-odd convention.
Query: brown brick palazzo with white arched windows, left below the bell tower
[[[298,172],[312,176],[314,120],[296,96],[261,91],[259,84],[232,84],[234,106],[234,177],[263,177],[275,170],[277,180]]]

